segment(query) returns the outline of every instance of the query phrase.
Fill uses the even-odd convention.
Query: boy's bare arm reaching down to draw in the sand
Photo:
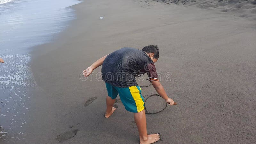
[[[156,89],[156,92],[161,95],[161,97],[166,101],[169,102],[169,105],[173,105],[174,101],[169,98],[166,94],[166,92],[164,91],[164,87],[163,85],[159,82],[159,81],[151,81],[153,87]]]

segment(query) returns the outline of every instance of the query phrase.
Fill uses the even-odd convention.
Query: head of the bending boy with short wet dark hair
[[[143,47],[142,51],[146,52],[148,54],[148,56],[151,58],[151,60],[153,60],[154,63],[159,58],[157,45],[145,46],[145,47]]]

